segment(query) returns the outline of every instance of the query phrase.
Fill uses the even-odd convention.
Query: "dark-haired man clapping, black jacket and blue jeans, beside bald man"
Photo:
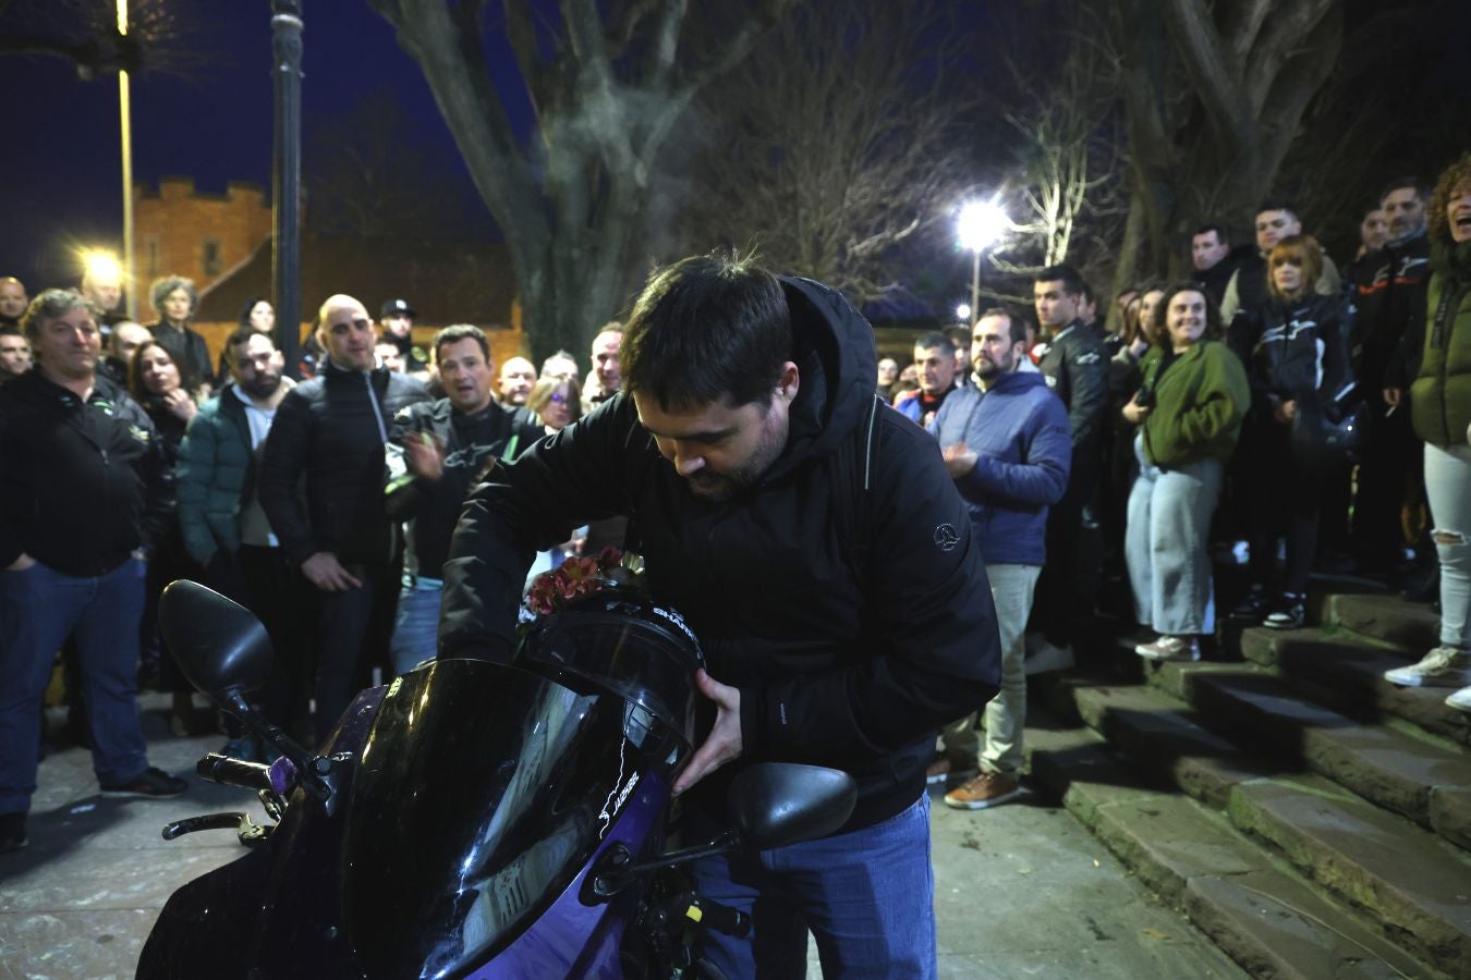
[[[402,453],[403,466],[385,491],[388,517],[412,522],[390,644],[399,673],[434,657],[444,561],[471,486],[487,466],[513,460],[546,435],[519,422],[521,407],[491,398],[490,341],[478,326],[446,326],[434,335],[434,357],[447,397],[409,406],[393,420],[390,453]],[[390,469],[399,469],[391,457]]]

